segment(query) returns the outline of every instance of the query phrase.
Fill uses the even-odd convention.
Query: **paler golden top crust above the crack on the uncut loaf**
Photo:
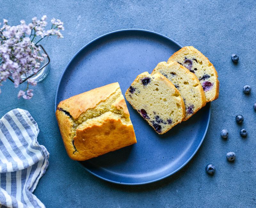
[[[63,100],[58,108],[65,109],[76,119],[87,109],[94,108],[100,101],[106,100],[118,88],[118,82],[107,84]]]

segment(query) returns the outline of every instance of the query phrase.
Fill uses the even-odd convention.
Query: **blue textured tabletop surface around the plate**
[[[39,125],[38,141],[50,152],[50,165],[36,196],[46,207],[256,207],[255,1],[0,1],[0,19],[18,24],[46,14],[65,23],[64,39],[43,45],[51,57],[50,72],[35,88],[32,100],[18,100],[19,89],[4,83],[0,115],[27,109]],[[68,158],[54,117],[54,96],[60,75],[73,55],[92,39],[124,28],[148,29],[193,45],[214,64],[220,96],[212,102],[206,138],[195,157],[178,173],[142,186],[122,186],[100,180]],[[239,55],[234,65],[232,53]],[[245,84],[252,86],[245,95]],[[25,88],[25,85],[21,86]],[[236,114],[244,115],[242,126]],[[239,135],[248,130],[248,137]],[[220,131],[229,131],[228,140]],[[234,151],[234,163],[226,153]],[[216,167],[213,177],[205,165]]]

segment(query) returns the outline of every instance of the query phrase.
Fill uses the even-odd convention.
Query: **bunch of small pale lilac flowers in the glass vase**
[[[28,25],[21,20],[20,25],[10,26],[8,20],[3,20],[3,26],[0,28],[0,86],[9,76],[12,76],[14,87],[17,88],[22,82],[21,75],[38,72],[46,54],[40,55],[41,49],[36,44],[49,36],[63,38],[60,32],[64,30],[63,22],[53,18],[51,23],[51,29],[46,30],[46,15],[40,20],[36,17],[32,18],[32,22]],[[33,90],[28,89],[29,85],[35,86],[36,82],[28,79],[27,88],[19,91],[18,98],[33,97]]]

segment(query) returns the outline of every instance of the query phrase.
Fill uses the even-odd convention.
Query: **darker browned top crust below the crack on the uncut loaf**
[[[136,143],[132,125],[124,125],[120,119],[107,119],[102,125],[76,130],[74,144],[76,160],[88,160]]]

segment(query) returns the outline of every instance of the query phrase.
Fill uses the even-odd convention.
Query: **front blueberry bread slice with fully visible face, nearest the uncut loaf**
[[[159,134],[170,130],[185,117],[180,92],[162,74],[144,72],[125,93],[126,100]]]

